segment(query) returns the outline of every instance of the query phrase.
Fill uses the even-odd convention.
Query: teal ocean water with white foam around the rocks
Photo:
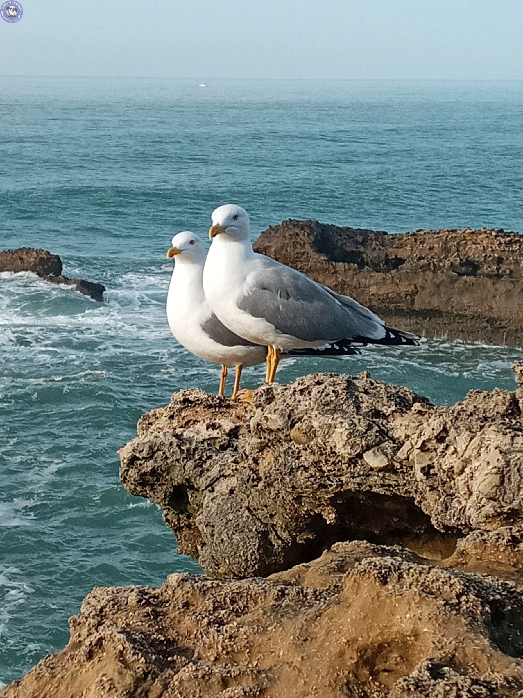
[[[180,230],[237,202],[253,237],[285,218],[402,232],[523,228],[523,83],[0,77],[0,250],[44,247],[105,304],[0,274],[0,685],[68,640],[93,586],[198,572],[116,449],[172,392],[219,369],[169,333]],[[287,359],[278,380],[369,370],[434,403],[514,389],[523,350],[441,339]],[[263,367],[245,369],[255,387]]]

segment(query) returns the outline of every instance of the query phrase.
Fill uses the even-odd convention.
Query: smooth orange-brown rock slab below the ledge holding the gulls
[[[96,588],[2,698],[517,698],[523,594],[398,547],[338,543],[268,579]]]

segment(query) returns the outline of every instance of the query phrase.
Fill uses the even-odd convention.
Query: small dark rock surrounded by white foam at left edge
[[[85,279],[69,279],[68,276],[63,276],[61,259],[47,250],[22,247],[0,252],[0,272],[34,272],[40,279],[74,286],[80,293],[103,302],[105,286]]]

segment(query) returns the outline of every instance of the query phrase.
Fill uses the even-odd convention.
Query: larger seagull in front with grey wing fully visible
[[[417,343],[416,335],[387,327],[349,296],[255,253],[249,216],[241,206],[220,206],[211,217],[205,297],[231,332],[267,347],[266,383],[274,382],[282,350]]]

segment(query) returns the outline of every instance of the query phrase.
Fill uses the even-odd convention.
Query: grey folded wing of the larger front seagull
[[[356,301],[354,307],[343,304],[305,274],[260,257],[259,269],[248,277],[250,292],[238,301],[241,310],[265,318],[282,334],[308,342],[384,335],[384,323],[364,306]]]

